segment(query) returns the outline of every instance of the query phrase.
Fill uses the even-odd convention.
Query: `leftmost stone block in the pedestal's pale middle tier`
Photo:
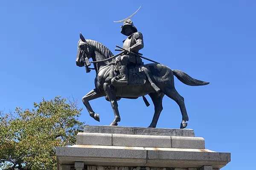
[[[76,144],[112,145],[112,134],[108,133],[78,133]]]

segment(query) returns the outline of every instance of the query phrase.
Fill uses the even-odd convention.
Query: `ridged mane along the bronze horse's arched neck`
[[[93,50],[98,51],[106,59],[113,56],[113,53],[102,43],[99,43],[95,40],[86,40],[87,44],[93,48]]]

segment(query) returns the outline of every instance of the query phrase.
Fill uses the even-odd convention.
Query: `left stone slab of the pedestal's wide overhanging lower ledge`
[[[56,147],[56,156],[59,164],[83,161],[87,165],[143,166],[147,151],[143,147],[73,145]]]

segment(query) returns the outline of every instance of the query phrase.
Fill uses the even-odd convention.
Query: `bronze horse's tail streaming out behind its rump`
[[[201,80],[193,79],[188,74],[186,74],[180,70],[172,70],[172,72],[175,75],[175,77],[177,77],[177,79],[179,79],[181,82],[183,82],[186,85],[199,86],[199,85],[208,85],[209,84],[209,82],[204,82]]]

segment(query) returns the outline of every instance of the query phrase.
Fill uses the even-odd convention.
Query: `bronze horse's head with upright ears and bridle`
[[[79,67],[88,67],[89,59],[92,57],[93,49],[85,40],[84,36],[80,33],[80,40],[78,42],[78,51],[76,56],[76,65]]]

